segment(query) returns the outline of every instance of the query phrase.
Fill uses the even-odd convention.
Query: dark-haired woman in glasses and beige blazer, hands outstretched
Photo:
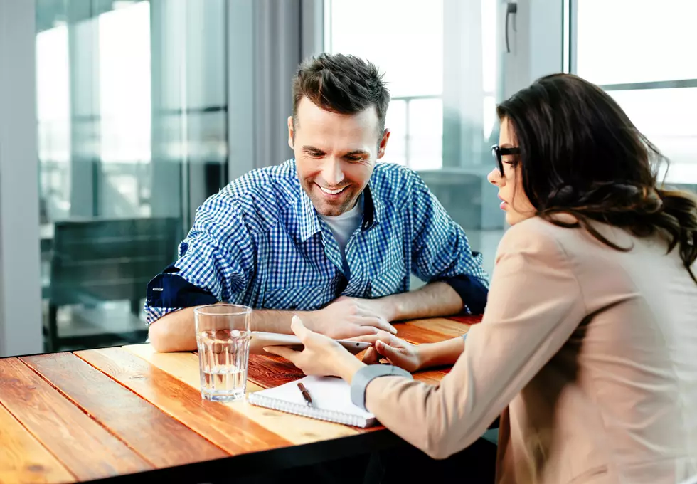
[[[354,401],[434,458],[501,414],[499,483],[697,474],[696,200],[656,185],[659,152],[580,78],[542,78],[497,111],[489,181],[512,227],[481,324],[467,349],[376,337],[409,371],[454,362],[440,386],[366,366],[299,320],[304,351],[270,351],[351,382]]]

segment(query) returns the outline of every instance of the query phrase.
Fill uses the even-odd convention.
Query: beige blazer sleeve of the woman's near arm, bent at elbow
[[[570,261],[545,225],[531,219],[504,235],[483,320],[439,386],[391,376],[368,384],[368,410],[432,458],[476,441],[585,315]]]

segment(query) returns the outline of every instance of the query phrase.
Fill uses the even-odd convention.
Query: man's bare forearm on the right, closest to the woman
[[[408,293],[381,298],[391,319],[414,320],[420,317],[449,316],[462,311],[462,298],[447,283],[430,283]]]

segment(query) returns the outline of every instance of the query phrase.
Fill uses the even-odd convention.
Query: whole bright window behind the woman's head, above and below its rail
[[[576,73],[607,90],[671,160],[666,181],[697,184],[697,2],[575,1]]]

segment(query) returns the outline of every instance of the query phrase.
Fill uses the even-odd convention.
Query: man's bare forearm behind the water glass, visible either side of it
[[[176,352],[196,349],[196,325],[193,309],[193,307],[186,307],[176,312],[170,312],[150,325],[150,343],[157,351]],[[250,327],[252,331],[291,334],[290,322],[293,315],[302,317],[307,315],[307,312],[253,310]]]

